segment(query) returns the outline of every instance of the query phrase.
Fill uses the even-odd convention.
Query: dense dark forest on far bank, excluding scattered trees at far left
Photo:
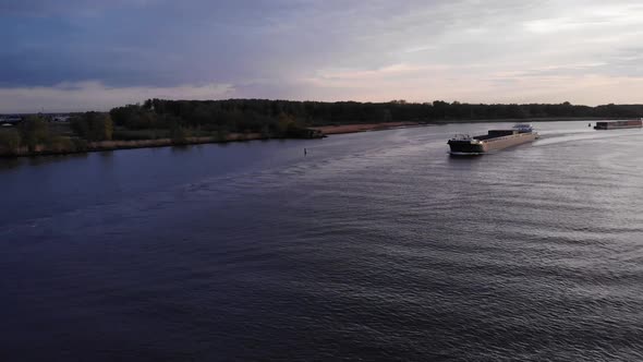
[[[559,105],[474,105],[446,102],[320,102],[266,99],[163,100],[118,107],[110,111],[117,126],[134,130],[198,129],[288,135],[288,130],[315,125],[375,122],[436,122],[529,118],[634,118],[643,105],[597,107]]]

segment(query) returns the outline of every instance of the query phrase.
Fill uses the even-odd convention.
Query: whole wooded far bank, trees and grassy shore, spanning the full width
[[[457,122],[498,119],[628,119],[643,105],[577,106],[446,102],[291,101],[267,99],[163,100],[117,107],[109,112],[76,113],[71,122],[28,116],[0,129],[0,154],[82,152],[94,142],[170,140],[172,144],[272,137],[315,137],[311,126],[379,122]],[[252,136],[251,136],[252,135]]]

